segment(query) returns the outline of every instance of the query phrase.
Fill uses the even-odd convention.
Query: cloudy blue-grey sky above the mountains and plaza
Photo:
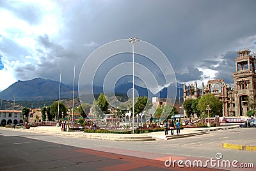
[[[61,82],[72,85],[74,66],[77,84],[90,54],[130,37],[159,48],[177,82],[200,85],[223,78],[232,85],[237,50],[256,52],[255,6],[254,0],[0,1],[0,91],[17,80],[60,80],[60,71]],[[117,62],[129,63],[123,70],[131,74],[132,56],[127,58],[102,64],[108,69],[98,75]],[[154,66],[141,64],[143,71]]]

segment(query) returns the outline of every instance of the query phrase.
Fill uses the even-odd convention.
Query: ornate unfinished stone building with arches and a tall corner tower
[[[248,100],[256,98],[256,70],[255,57],[251,56],[251,51],[243,49],[237,51],[236,72],[233,73],[234,89],[226,84],[223,79],[209,80],[207,85],[202,83],[202,89],[197,87],[197,83],[189,85],[184,84],[184,101],[196,99],[207,93],[212,93],[223,102],[223,116],[246,116]],[[184,112],[185,113],[185,112]]]

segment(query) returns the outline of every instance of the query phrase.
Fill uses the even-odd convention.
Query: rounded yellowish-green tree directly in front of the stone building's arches
[[[209,105],[211,108],[209,111],[209,116],[214,117],[216,114],[220,113],[223,103],[218,98],[216,98],[214,94],[208,93],[198,101],[198,108],[200,108],[201,112],[207,114],[207,105]]]

